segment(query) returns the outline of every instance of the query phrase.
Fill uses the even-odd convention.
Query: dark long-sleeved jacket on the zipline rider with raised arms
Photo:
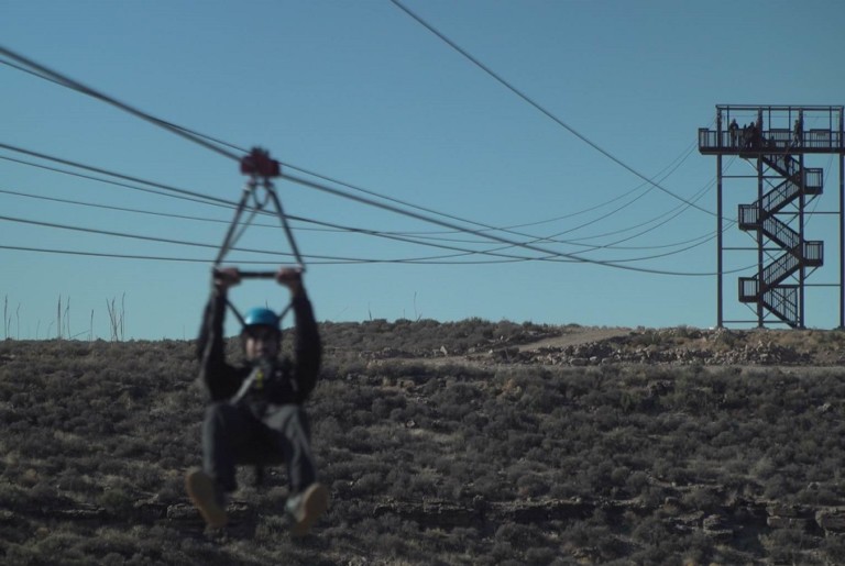
[[[212,290],[200,328],[197,355],[199,378],[211,401],[231,400],[239,393],[244,380],[256,369],[253,364],[232,366],[226,362],[223,317],[226,292]],[[314,310],[303,293],[292,302],[294,311],[294,359],[276,362],[261,380],[261,388],[251,387],[244,402],[303,403],[317,385],[322,345]]]

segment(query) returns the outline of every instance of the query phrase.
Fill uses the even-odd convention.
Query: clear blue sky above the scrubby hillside
[[[11,0],[3,3],[0,37],[6,48],[156,118],[239,147],[266,147],[297,168],[481,224],[520,226],[512,229],[519,234],[495,232],[501,237],[553,238],[536,245],[656,271],[715,273],[716,246],[707,240],[715,219],[683,200],[699,199],[698,207],[715,210],[715,158],[699,154],[696,131],[712,126],[716,104],[845,103],[845,3],[838,0],[404,4],[627,167],[388,0]],[[7,65],[0,65],[0,143],[215,198],[240,197],[245,179],[237,163],[221,155]],[[7,149],[0,156],[70,169]],[[835,164],[825,158],[817,165],[830,171],[817,210],[837,207]],[[732,167],[749,168],[744,162]],[[211,246],[222,242],[232,218],[220,207],[8,159],[0,159],[0,215],[7,218]],[[471,251],[503,247],[285,180],[277,191],[293,215],[413,232],[426,242]],[[732,196],[725,215],[735,219],[736,203],[755,198]],[[712,326],[716,320],[713,275],[539,260],[542,254],[518,247],[502,253],[534,259],[485,264],[478,262],[502,258],[476,254],[445,259],[451,265],[321,264],[310,257],[383,260],[456,252],[315,231],[301,222],[293,226],[308,256],[306,281],[319,320],[479,317],[649,328]],[[12,337],[55,336],[59,298],[63,309],[69,301],[63,326],[69,322],[70,334],[80,339],[89,333],[109,339],[112,300],[124,315],[125,339],[196,334],[213,247],[8,220],[0,221],[0,231],[6,246],[200,260],[0,249],[0,301]],[[837,282],[835,223],[819,217],[808,233],[827,245],[827,262],[813,282]],[[726,237],[754,245],[735,227]],[[252,227],[242,245],[289,252],[278,227]],[[755,258],[731,259],[726,267]],[[288,263],[283,256],[271,260]],[[736,301],[738,275],[726,278],[726,318],[753,317]],[[265,301],[281,309],[285,295],[248,282],[232,298],[242,310]],[[833,290],[811,291],[808,325],[836,326],[837,301]],[[7,329],[0,331],[6,337]],[[228,331],[238,329],[229,324]]]

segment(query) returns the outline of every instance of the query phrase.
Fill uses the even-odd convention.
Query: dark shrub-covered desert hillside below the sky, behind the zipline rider
[[[188,504],[191,343],[0,343],[0,563],[845,563],[839,332],[322,331],[301,541],[278,469],[223,533]]]

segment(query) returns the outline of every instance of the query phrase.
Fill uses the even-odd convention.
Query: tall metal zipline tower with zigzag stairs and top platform
[[[746,123],[747,122],[747,123]],[[838,156],[838,289],[839,328],[845,328],[845,144],[843,107],[716,106],[716,129],[699,129],[699,152],[716,156],[717,325],[756,323],[805,328],[806,278],[824,264],[824,243],[804,234],[812,214],[808,204],[822,195],[824,175],[806,167],[812,154]],[[725,175],[723,156],[746,159],[754,175]],[[745,181],[740,181],[746,179]],[[724,247],[723,189],[756,179],[756,200],[738,206],[737,226],[754,237],[756,247]],[[757,274],[740,277],[738,299],[756,313],[754,320],[724,320],[724,262],[726,251],[756,252]],[[823,285],[820,285],[823,286]]]

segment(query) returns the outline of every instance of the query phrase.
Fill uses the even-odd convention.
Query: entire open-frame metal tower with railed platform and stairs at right
[[[838,328],[845,329],[845,107],[716,104],[715,110],[712,124],[699,127],[699,152],[716,157],[716,325],[803,329],[811,311],[825,318],[835,310]],[[822,169],[811,166],[819,167],[825,155],[838,163],[824,171],[825,192],[831,192],[831,182],[836,190],[821,196]],[[737,158],[754,171],[733,167]],[[753,196],[740,196],[747,190]],[[726,206],[739,209],[739,234],[728,230],[734,223],[725,218]],[[812,235],[820,237],[834,231],[838,217],[836,257],[830,260],[828,243],[824,266],[823,243],[808,238],[809,220],[816,217],[831,219],[812,224]],[[751,245],[742,242],[749,236]],[[732,293],[725,285],[728,279],[736,285],[738,275],[728,274],[737,271],[747,277],[738,281],[738,308],[729,306],[726,312],[725,299]],[[816,281],[816,271],[825,280]],[[828,292],[836,297],[835,307]],[[727,304],[736,302],[732,298]]]

